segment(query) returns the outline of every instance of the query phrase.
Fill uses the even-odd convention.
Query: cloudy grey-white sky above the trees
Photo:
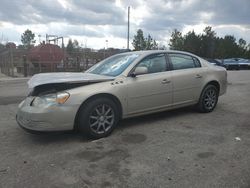
[[[0,42],[21,43],[30,29],[37,42],[50,34],[83,47],[126,48],[128,6],[130,43],[139,28],[167,46],[174,28],[201,33],[207,25],[250,42],[250,0],[1,0]]]

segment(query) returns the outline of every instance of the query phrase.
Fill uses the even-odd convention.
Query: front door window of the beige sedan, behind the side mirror
[[[148,73],[164,72],[166,66],[165,54],[150,55],[137,64],[137,67],[146,67]]]

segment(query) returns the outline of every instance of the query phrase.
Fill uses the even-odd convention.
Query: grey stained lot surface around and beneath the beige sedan
[[[0,80],[0,187],[250,187],[250,71],[228,82],[212,113],[127,119],[92,141],[24,132],[15,113],[26,80]]]

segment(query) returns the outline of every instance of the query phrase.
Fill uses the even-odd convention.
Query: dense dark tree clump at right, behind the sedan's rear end
[[[236,41],[233,35],[218,37],[210,26],[202,34],[189,31],[183,35],[174,29],[169,46],[170,49],[188,51],[205,58],[250,58],[250,44],[247,45],[243,38]]]

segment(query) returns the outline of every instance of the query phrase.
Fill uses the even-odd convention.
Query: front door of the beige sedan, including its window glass
[[[172,105],[172,76],[167,71],[165,54],[154,54],[144,58],[139,64],[148,73],[128,77],[126,80],[128,114],[165,109]]]

